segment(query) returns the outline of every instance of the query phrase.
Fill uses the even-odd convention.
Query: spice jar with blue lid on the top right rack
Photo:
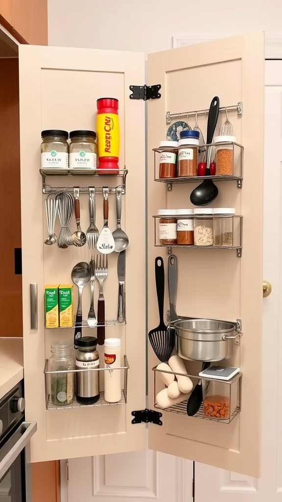
[[[178,142],[179,177],[197,176],[199,137],[198,131],[181,131]]]

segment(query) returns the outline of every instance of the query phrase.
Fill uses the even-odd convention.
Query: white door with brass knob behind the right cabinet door
[[[195,502],[282,500],[281,284],[282,284],[282,61],[265,62],[261,477],[195,463]],[[250,498],[251,497],[251,498]]]

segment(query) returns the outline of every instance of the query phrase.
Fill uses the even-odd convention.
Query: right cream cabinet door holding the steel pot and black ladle
[[[229,424],[222,424],[188,417],[185,412],[163,411],[163,426],[150,424],[150,448],[251,476],[260,472],[263,63],[262,33],[151,54],[148,61],[149,84],[162,85],[162,98],[148,105],[149,329],[158,325],[155,257],[167,260],[166,248],[154,246],[152,215],[159,208],[193,207],[190,193],[199,184],[198,180],[173,184],[167,191],[166,184],[154,181],[152,149],[166,139],[166,112],[187,112],[180,117],[193,128],[195,115],[188,112],[208,109],[213,96],[219,96],[222,107],[241,101],[242,116],[231,111],[229,120],[237,142],[244,146],[242,189],[236,181],[216,182],[219,195],[210,204],[235,207],[236,214],[243,216],[242,257],[237,258],[233,249],[173,247],[178,259],[178,314],[242,321],[240,345],[234,346],[232,358],[226,361],[243,373],[241,412]],[[219,114],[218,126],[225,121],[224,111]],[[205,137],[207,117],[198,118]],[[149,368],[157,362],[150,347]],[[186,362],[188,372],[198,374],[200,363]],[[154,407],[153,371],[149,403]]]

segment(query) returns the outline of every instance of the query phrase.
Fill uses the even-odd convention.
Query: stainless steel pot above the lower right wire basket
[[[213,319],[178,319],[170,323],[176,330],[176,351],[192,361],[223,361],[233,353],[234,338],[240,336],[235,324]]]

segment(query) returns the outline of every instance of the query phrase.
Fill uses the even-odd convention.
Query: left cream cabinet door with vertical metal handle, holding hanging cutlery
[[[144,103],[129,99],[129,85],[144,82],[144,55],[54,47],[20,47],[21,204],[23,253],[23,331],[26,419],[37,421],[31,441],[33,462],[142,449],[145,425],[132,425],[131,411],[145,408],[145,112]],[[129,235],[126,250],[126,325],[106,326],[106,337],[121,338],[129,370],[127,404],[46,410],[44,364],[53,340],[73,340],[74,330],[44,329],[44,287],[70,283],[73,266],[89,261],[87,246],[60,249],[44,244],[45,197],[40,168],[41,131],[95,130],[96,99],[119,100],[120,166],[126,165],[122,226]],[[53,187],[115,187],[118,176],[51,176]],[[96,195],[96,224],[103,226],[103,197]],[[89,225],[88,195],[80,195],[81,227]],[[72,231],[75,221],[71,223]],[[109,226],[116,226],[115,195],[109,195]],[[60,230],[56,223],[56,232]],[[108,256],[104,283],[106,318],[116,319],[117,254]],[[31,329],[30,283],[38,285],[38,329]],[[95,283],[95,307],[98,288]],[[77,302],[77,291],[75,291]],[[75,305],[76,308],[76,305]],[[83,316],[89,310],[89,289],[83,293]],[[116,323],[118,324],[118,323]],[[96,329],[83,328],[94,335]],[[103,347],[99,347],[103,357]],[[102,377],[101,377],[102,384]]]

